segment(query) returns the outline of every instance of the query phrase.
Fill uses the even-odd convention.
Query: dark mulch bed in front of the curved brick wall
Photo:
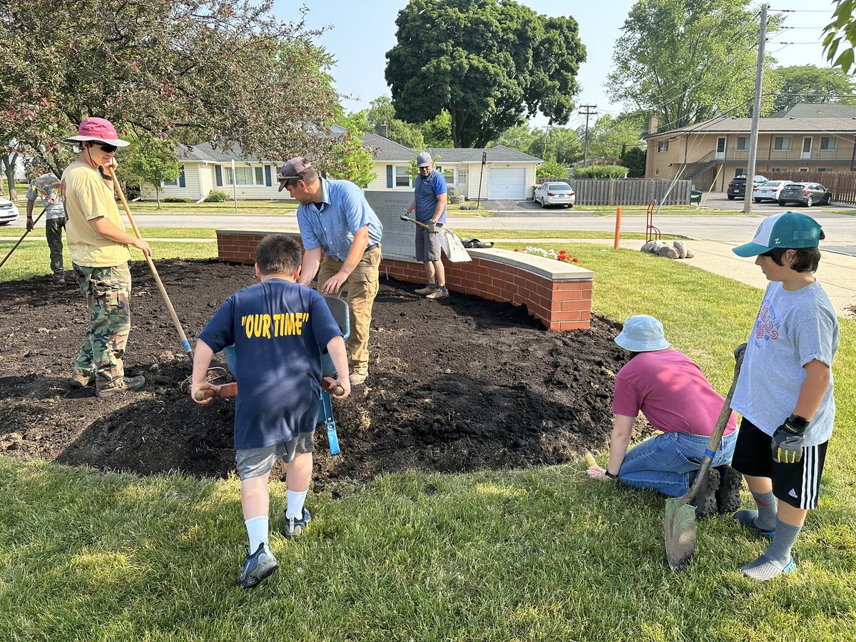
[[[236,289],[246,265],[158,261],[191,338]],[[126,369],[140,394],[98,399],[69,389],[86,330],[76,285],[46,277],[0,283],[0,452],[150,474],[223,477],[233,468],[233,401],[198,406],[183,394],[181,351],[146,264],[134,262]],[[457,472],[556,464],[603,447],[615,372],[624,358],[615,324],[544,330],[526,309],[453,294],[429,301],[382,278],[372,324],[371,373],[335,404],[342,455],[318,431],[316,486],[403,470]],[[279,469],[277,473],[281,472]]]

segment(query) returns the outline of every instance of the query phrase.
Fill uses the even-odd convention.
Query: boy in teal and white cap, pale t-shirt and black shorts
[[[755,580],[794,570],[791,549],[808,509],[817,507],[832,436],[838,319],[812,276],[823,237],[813,218],[788,211],[764,219],[752,242],[734,248],[738,256],[757,257],[770,281],[731,404],[743,417],[732,467],[758,504],[734,519],[773,537],[763,555],[740,568]]]

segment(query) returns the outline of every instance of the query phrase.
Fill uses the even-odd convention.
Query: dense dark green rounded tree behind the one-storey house
[[[395,19],[386,80],[395,113],[449,112],[455,147],[485,146],[539,111],[568,122],[586,60],[577,22],[512,0],[411,0]]]

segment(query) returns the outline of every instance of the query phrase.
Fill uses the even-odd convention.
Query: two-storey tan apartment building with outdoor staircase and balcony
[[[746,174],[751,118],[713,118],[668,132],[651,118],[645,139],[645,178],[693,181],[697,189],[724,192]],[[796,104],[761,118],[755,173],[856,171],[856,109],[844,104]],[[714,184],[714,181],[716,183]]]

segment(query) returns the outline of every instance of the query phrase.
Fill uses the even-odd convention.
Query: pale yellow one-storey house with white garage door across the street
[[[335,129],[334,129],[335,131]],[[416,152],[384,136],[366,133],[363,140],[375,153],[376,178],[366,189],[407,192],[413,190],[409,171]],[[449,187],[467,199],[531,199],[535,189],[535,169],[540,158],[517,152],[506,146],[488,149],[431,148],[435,166],[443,172]],[[211,190],[233,193],[238,199],[289,199],[288,192],[278,192],[276,173],[282,161],[245,158],[240,150],[220,150],[210,143],[178,146],[181,175],[163,183],[161,196],[175,196],[199,201]],[[484,161],[484,163],[483,163]],[[233,173],[234,162],[234,173]],[[144,186],[143,199],[154,199],[152,186]]]

